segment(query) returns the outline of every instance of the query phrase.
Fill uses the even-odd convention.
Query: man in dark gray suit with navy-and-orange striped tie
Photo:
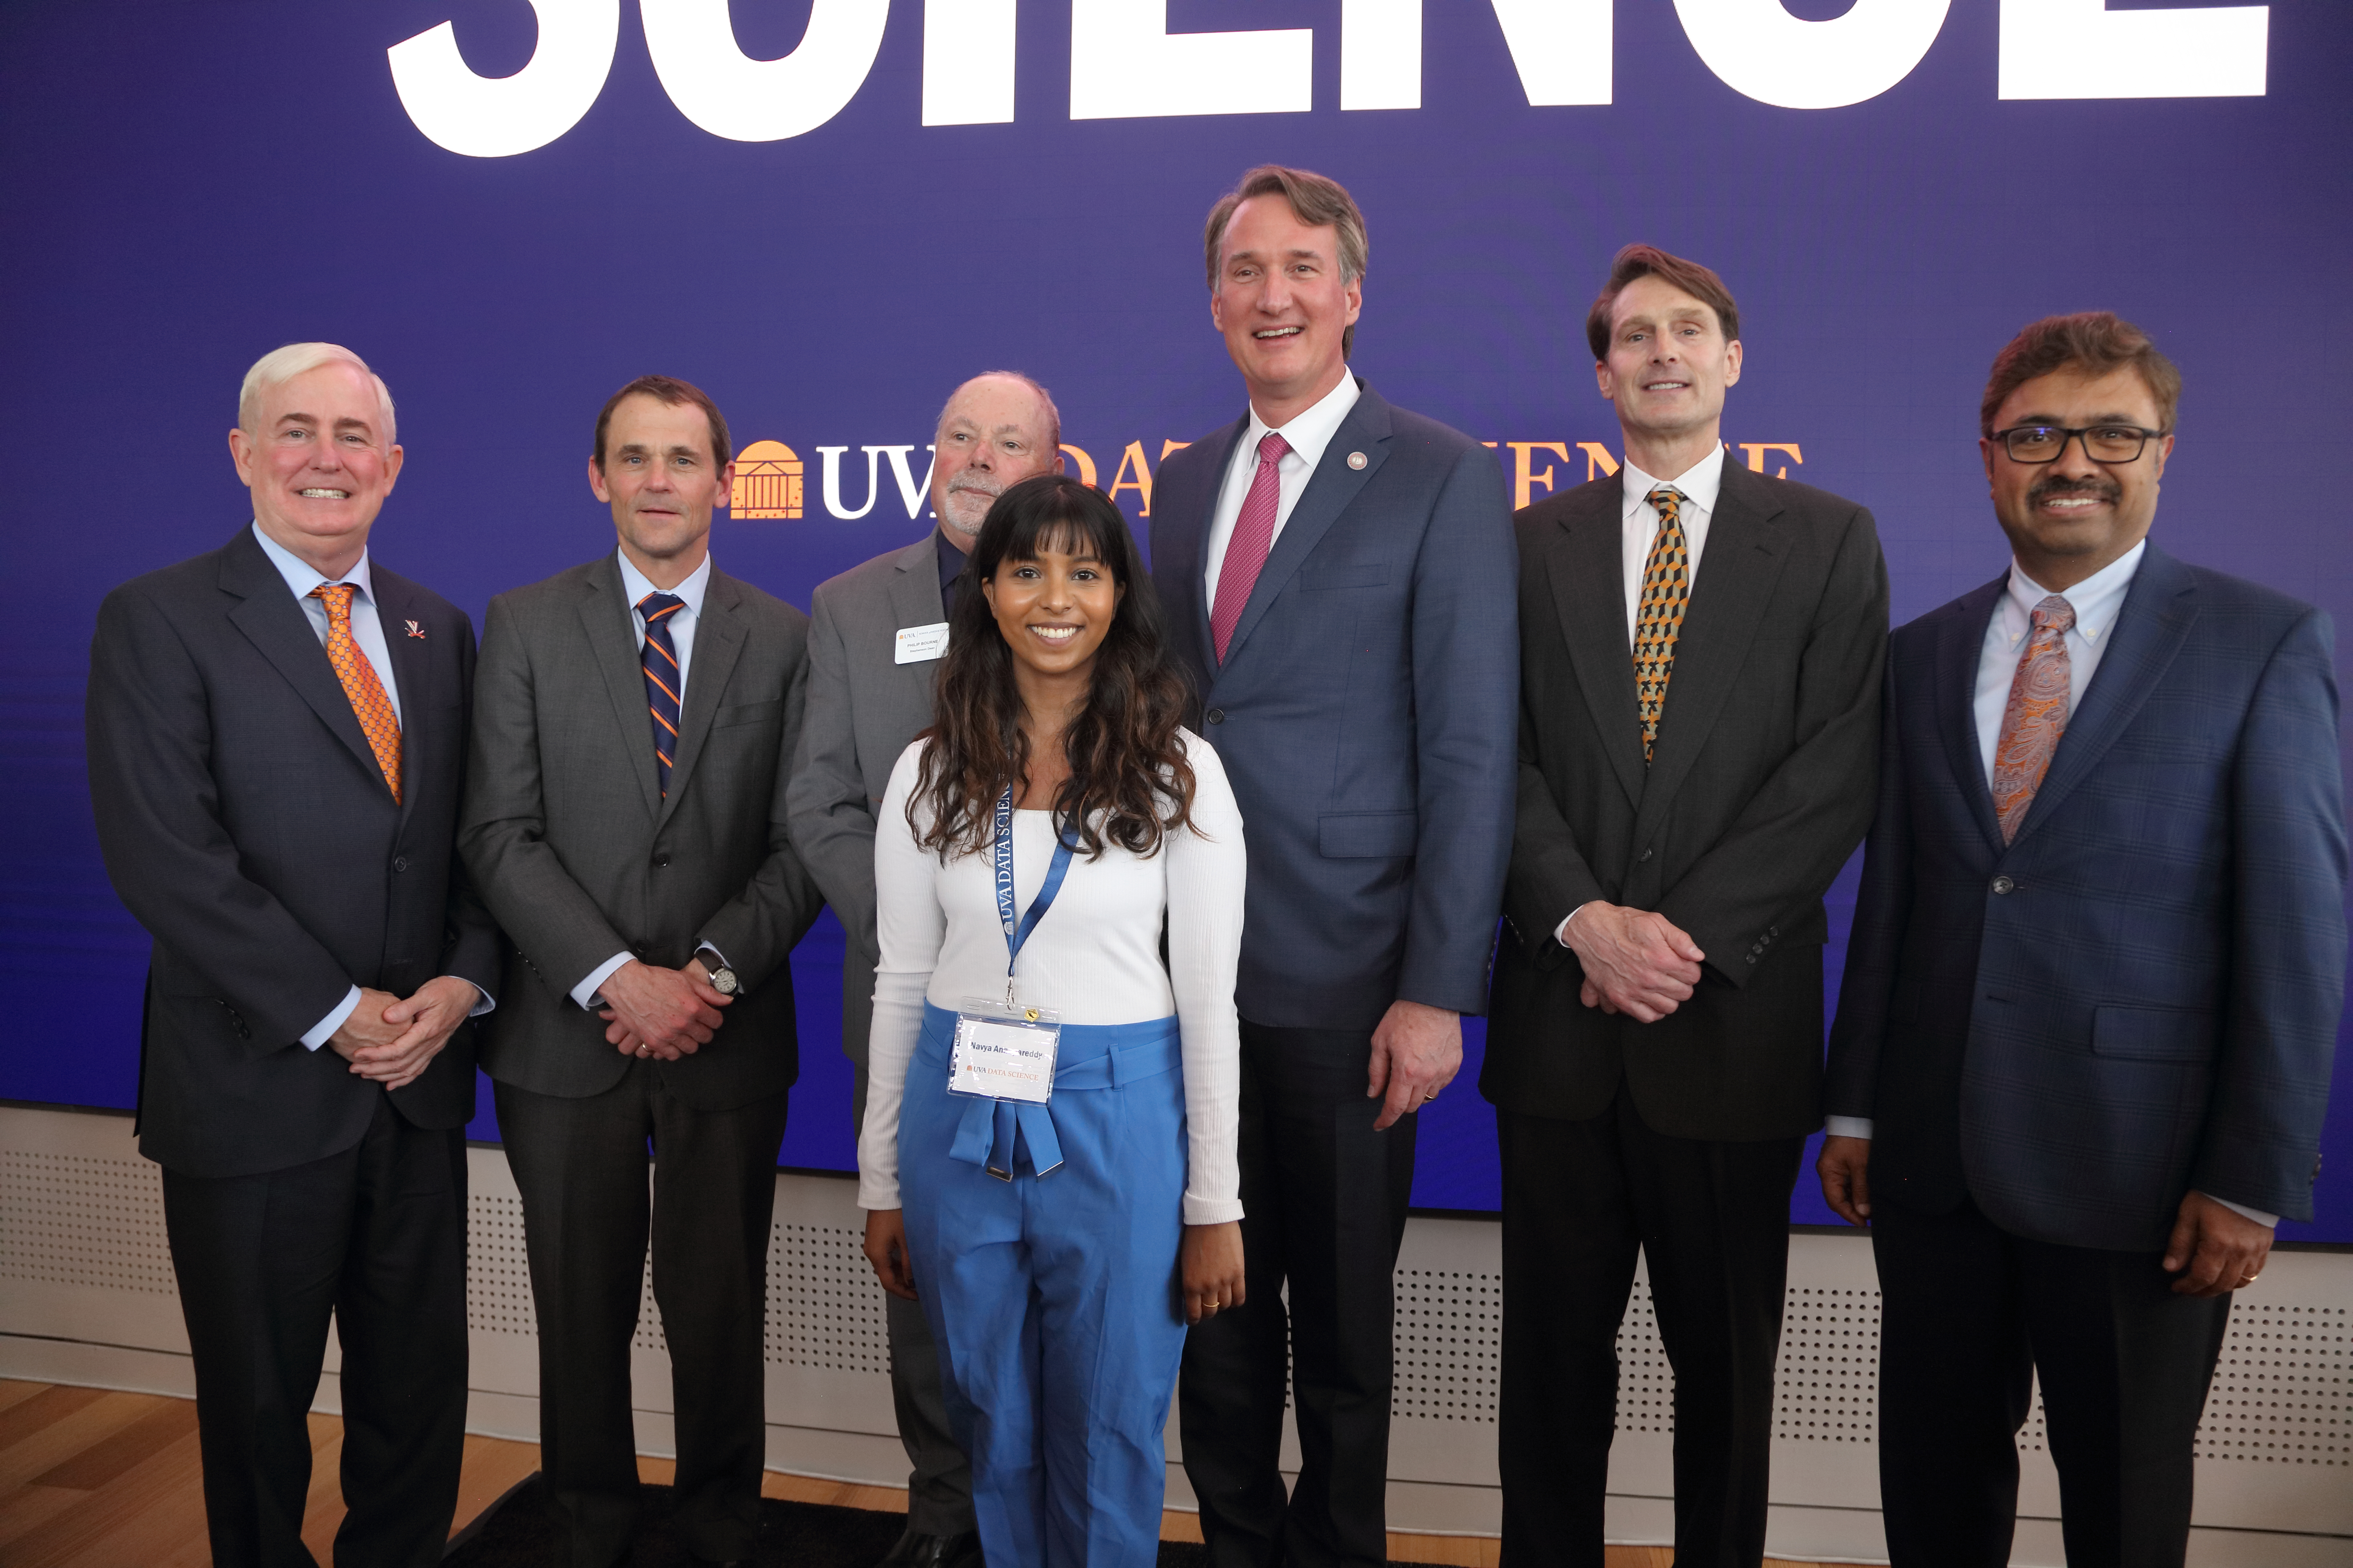
[[[461,849],[513,952],[482,1067],[522,1192],[560,1561],[628,1556],[628,1345],[647,1222],[678,1410],[678,1528],[751,1561],[767,1237],[816,889],[784,785],[807,618],[711,564],[727,421],[640,376],[588,484],[614,555],[489,602]],[[647,1213],[647,1140],[654,1145]]]

